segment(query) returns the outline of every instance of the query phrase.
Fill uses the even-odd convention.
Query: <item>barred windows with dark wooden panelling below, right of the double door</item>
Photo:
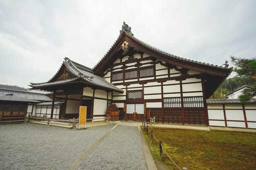
[[[207,125],[207,111],[202,96],[164,98],[163,108],[150,108],[156,122]]]

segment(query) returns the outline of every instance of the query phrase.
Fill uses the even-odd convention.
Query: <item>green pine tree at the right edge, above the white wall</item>
[[[243,90],[243,94],[238,96],[240,102],[247,102],[256,96],[256,57],[243,59],[231,56],[231,60],[236,66],[234,71],[238,77],[252,77],[255,81],[253,89],[245,89]]]

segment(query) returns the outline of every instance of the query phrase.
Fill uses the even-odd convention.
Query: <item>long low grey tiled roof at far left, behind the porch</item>
[[[49,98],[44,94],[0,88],[0,96],[6,96],[10,94],[13,94],[13,96],[16,96],[19,98],[24,98],[32,101],[41,101],[41,102],[52,101],[51,98]]]

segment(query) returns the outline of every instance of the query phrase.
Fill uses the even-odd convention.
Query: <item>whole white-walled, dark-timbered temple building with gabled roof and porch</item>
[[[63,102],[59,119],[77,118],[80,105],[87,106],[87,119],[104,119],[115,104],[121,120],[209,125],[206,99],[231,71],[161,51],[136,38],[124,22],[94,68],[66,57],[48,82],[30,86],[53,92],[52,108],[54,101]]]

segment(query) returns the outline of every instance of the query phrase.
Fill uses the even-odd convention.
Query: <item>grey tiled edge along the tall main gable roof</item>
[[[135,41],[137,41],[138,43],[140,43],[141,45],[143,45],[143,46],[145,46],[145,47],[147,47],[147,48],[149,48],[149,49],[151,49],[151,50],[153,50],[153,51],[157,51],[158,53],[163,54],[163,55],[165,55],[165,56],[168,56],[168,57],[170,57],[170,58],[175,58],[175,59],[178,59],[178,60],[181,60],[181,61],[185,61],[185,62],[189,62],[189,63],[194,63],[194,64],[198,64],[198,65],[203,65],[203,66],[207,66],[207,67],[212,67],[212,68],[220,68],[220,69],[227,69],[227,70],[231,69],[231,68],[226,68],[226,67],[222,67],[222,66],[217,66],[217,65],[213,65],[213,64],[209,64],[209,63],[202,63],[202,62],[198,62],[198,61],[194,61],[194,60],[190,60],[190,59],[185,59],[185,58],[179,57],[179,56],[177,56],[177,55],[173,55],[173,54],[171,54],[171,53],[169,53],[169,52],[162,51],[162,50],[160,50],[160,49],[158,49],[158,48],[156,48],[156,47],[153,47],[153,46],[151,46],[151,45],[149,45],[149,44],[147,44],[147,43],[141,41],[140,39],[136,38],[134,35],[129,34],[129,33],[126,32],[126,31],[122,31],[122,34],[125,34],[125,35],[127,35],[128,37],[130,37],[130,38],[134,39]],[[122,34],[120,34],[120,35],[118,36],[118,39],[119,39],[119,37],[120,37]],[[110,51],[110,50],[113,48],[113,46],[116,44],[116,42],[118,41],[118,39],[114,42],[114,44],[113,44],[113,45],[111,46],[111,48],[107,51],[107,53],[101,58],[101,60],[97,63],[97,65],[105,58],[105,56],[109,53],[109,51]],[[96,68],[97,65],[96,65],[94,68]],[[93,68],[93,69],[94,69],[94,68]]]

